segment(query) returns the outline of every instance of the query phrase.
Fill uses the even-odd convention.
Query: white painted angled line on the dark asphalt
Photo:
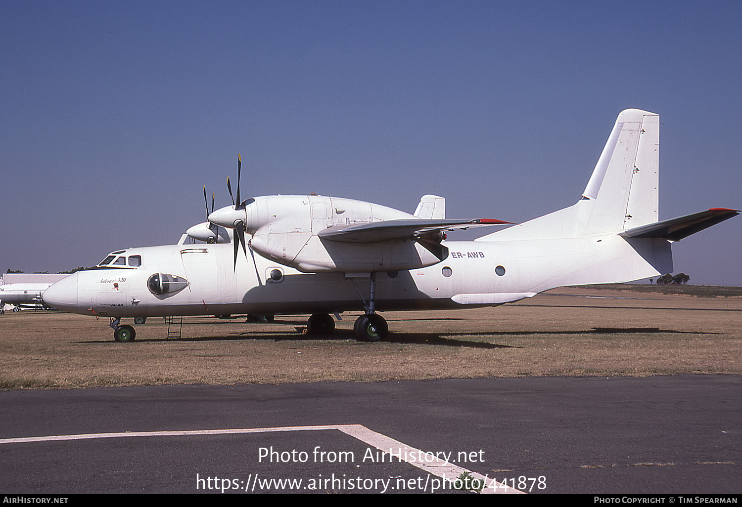
[[[453,465],[444,460],[433,460],[430,463],[421,463],[418,457],[424,455],[424,451],[410,447],[381,433],[370,430],[360,424],[340,424],[321,426],[283,426],[276,428],[235,428],[220,430],[187,430],[187,431],[122,431],[118,433],[83,433],[76,435],[51,435],[49,437],[21,437],[0,439],[0,445],[8,443],[31,443],[31,442],[59,442],[62,440],[89,440],[93,438],[122,438],[122,437],[185,437],[189,435],[229,435],[249,433],[275,433],[279,431],[318,431],[338,430],[361,442],[373,445],[379,451],[392,455],[393,458],[401,458],[401,461],[409,463],[430,474],[442,479],[454,480],[459,475],[467,473],[471,477],[482,480],[485,483],[483,494],[524,494],[523,491],[510,488],[490,477],[485,477],[475,471],[471,471],[459,465]],[[401,453],[399,452],[401,449]],[[391,451],[391,453],[390,453]],[[414,455],[414,458],[413,458]],[[390,458],[391,459],[391,458]]]

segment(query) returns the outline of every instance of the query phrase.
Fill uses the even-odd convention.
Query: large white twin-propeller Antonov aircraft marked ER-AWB
[[[659,148],[660,117],[625,110],[575,205],[466,242],[445,241],[445,231],[508,222],[446,219],[438,196],[424,196],[413,215],[318,195],[240,202],[238,166],[236,202],[213,211],[212,200],[209,222],[189,230],[207,243],[111,252],[44,301],[111,318],[119,342],[135,336],[122,317],[312,314],[308,331],[326,333],[330,314],[359,310],[355,333],[375,341],[388,332],[377,311],[502,305],[562,285],[666,274],[672,242],[738,211],[659,222]]]

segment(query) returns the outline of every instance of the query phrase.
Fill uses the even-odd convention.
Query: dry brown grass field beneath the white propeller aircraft
[[[306,316],[191,317],[180,339],[153,318],[122,344],[108,319],[6,313],[0,388],[742,374],[742,296],[700,295],[557,288],[498,308],[387,313],[379,343],[356,341],[350,314],[324,339],[297,331]]]

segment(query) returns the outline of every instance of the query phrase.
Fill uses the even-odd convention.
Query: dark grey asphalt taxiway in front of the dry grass
[[[382,448],[447,456],[532,494],[735,494],[740,414],[742,377],[729,375],[4,391],[0,491],[430,492],[434,474],[363,437],[280,429],[362,425]],[[279,429],[219,431],[235,428]],[[195,434],[136,433],[153,431]],[[100,435],[116,432],[134,436]],[[7,440],[76,434],[95,435]]]

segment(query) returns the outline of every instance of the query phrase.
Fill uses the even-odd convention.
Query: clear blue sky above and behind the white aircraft
[[[742,2],[1,1],[0,271],[177,242],[202,185],[523,222],[617,114],[660,114],[660,219],[742,208]],[[742,285],[742,218],[674,246]]]

